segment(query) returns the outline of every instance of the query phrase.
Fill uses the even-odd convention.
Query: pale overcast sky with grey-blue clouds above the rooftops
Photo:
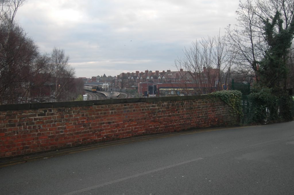
[[[236,23],[238,0],[26,0],[16,20],[41,53],[64,49],[76,77],[176,71],[183,49]]]

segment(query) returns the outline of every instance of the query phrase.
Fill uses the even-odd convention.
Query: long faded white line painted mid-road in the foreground
[[[202,159],[203,158],[196,158],[196,159],[176,163],[176,164],[169,165],[169,166],[166,166],[166,167],[161,167],[161,168],[158,168],[158,169],[153,169],[153,170],[150,170],[150,171],[146,171],[146,172],[143,172],[143,173],[138,173],[138,174],[131,175],[131,176],[128,176],[128,177],[123,177],[121,179],[116,179],[116,180],[106,182],[106,183],[103,183],[103,184],[98,184],[98,185],[95,185],[95,186],[91,186],[91,187],[83,188],[83,189],[80,189],[80,190],[72,191],[70,193],[63,194],[63,195],[74,195],[74,194],[82,193],[82,192],[85,192],[85,191],[93,190],[93,189],[100,188],[100,187],[103,187],[103,186],[107,186],[107,185],[110,185],[110,184],[114,184],[114,183],[117,183],[117,182],[122,182],[122,181],[125,181],[127,179],[132,179],[132,178],[135,178],[135,177],[139,177],[139,176],[147,175],[147,174],[150,174],[150,173],[162,171],[164,169],[169,169],[169,168],[172,168],[172,167],[184,165],[184,164],[187,164],[187,163],[190,163],[190,162],[195,162],[195,161],[202,160]]]

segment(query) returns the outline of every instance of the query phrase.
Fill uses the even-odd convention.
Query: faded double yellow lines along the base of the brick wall
[[[79,149],[70,150],[70,151],[58,152],[58,153],[55,153],[55,154],[45,154],[45,155],[40,155],[40,156],[36,156],[36,157],[30,157],[28,159],[21,159],[21,160],[9,161],[9,162],[2,162],[2,163],[0,163],[0,168],[1,167],[7,167],[7,166],[10,166],[10,165],[22,164],[22,163],[25,163],[25,162],[32,162],[32,161],[44,159],[45,157],[46,158],[51,158],[51,157],[62,156],[62,155],[67,155],[67,154],[74,154],[74,153],[83,152],[83,151],[95,150],[95,149],[99,149],[99,148],[124,145],[124,144],[134,143],[134,142],[141,142],[141,141],[146,141],[146,140],[150,140],[150,139],[160,139],[160,138],[173,137],[173,136],[177,136],[177,135],[189,135],[189,134],[195,134],[195,133],[204,133],[204,132],[211,132],[211,131],[218,131],[218,130],[240,129],[240,128],[248,128],[248,127],[259,127],[259,126],[242,126],[242,127],[230,127],[230,128],[216,128],[216,129],[208,129],[208,130],[195,130],[193,132],[191,132],[191,131],[189,131],[189,132],[173,132],[170,135],[159,135],[159,136],[155,136],[155,137],[126,140],[126,141],[120,141],[119,143],[106,143],[106,144],[100,143],[100,145],[88,146],[88,147],[85,147],[85,148],[79,148]],[[132,139],[132,138],[129,138],[129,139]],[[118,141],[118,140],[114,140],[114,141]],[[101,144],[103,144],[103,145],[101,145]]]

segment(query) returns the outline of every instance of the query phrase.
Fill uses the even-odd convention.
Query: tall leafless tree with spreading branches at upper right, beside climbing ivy
[[[266,29],[271,26],[272,38],[281,32],[288,32],[293,28],[293,12],[294,4],[291,0],[240,1],[236,11],[238,23],[233,28],[230,25],[227,28],[228,44],[236,52],[234,63],[238,71],[254,73],[255,79],[260,79],[259,65],[269,56],[268,51],[272,48]],[[275,22],[277,16],[278,22]]]

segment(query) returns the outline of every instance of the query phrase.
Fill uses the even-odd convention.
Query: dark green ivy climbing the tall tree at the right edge
[[[260,61],[260,81],[265,87],[280,88],[280,82],[288,78],[287,57],[294,35],[294,20],[289,28],[283,28],[282,14],[276,11],[271,20],[263,19],[263,35],[268,49]]]

